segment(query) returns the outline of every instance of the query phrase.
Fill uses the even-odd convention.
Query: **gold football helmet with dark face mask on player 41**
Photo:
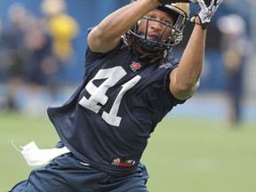
[[[135,36],[135,38],[138,40],[138,43],[140,44],[140,47],[146,52],[154,52],[156,50],[156,47],[158,48],[157,49],[158,51],[159,51],[159,48],[162,51],[171,50],[173,45],[179,44],[180,41],[182,40],[183,30],[189,20],[189,4],[184,4],[184,3],[165,4],[164,6],[163,5],[158,6],[156,9],[161,12],[168,13],[173,19],[174,24],[171,25],[164,21],[156,20],[156,19],[145,16],[141,19],[141,20],[146,20],[147,22],[146,31],[143,34],[139,33],[138,31],[141,20],[139,20],[128,32],[128,35]],[[152,20],[156,22],[160,22],[164,25],[164,30],[162,32],[162,35],[155,40],[148,38],[148,22]],[[164,31],[166,31],[166,29],[168,28],[172,29],[171,30],[172,33],[170,36],[168,36],[166,39],[163,40],[162,36],[164,35]]]

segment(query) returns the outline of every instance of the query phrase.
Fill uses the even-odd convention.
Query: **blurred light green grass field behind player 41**
[[[12,140],[52,148],[59,139],[46,117],[2,114],[0,123],[0,192],[6,192],[32,170]],[[152,134],[142,162],[151,192],[255,192],[256,124],[233,129],[216,120],[168,117]]]

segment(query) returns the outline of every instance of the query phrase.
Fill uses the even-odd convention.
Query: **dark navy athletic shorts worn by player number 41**
[[[81,164],[69,153],[50,164],[33,170],[28,180],[12,188],[12,192],[136,192],[148,191],[148,172],[143,164],[125,176],[113,176],[90,165]]]

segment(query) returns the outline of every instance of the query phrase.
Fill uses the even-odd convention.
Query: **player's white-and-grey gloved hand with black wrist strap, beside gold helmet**
[[[197,0],[200,6],[199,11],[194,17],[191,18],[192,22],[195,22],[196,16],[199,17],[203,29],[208,27],[213,14],[217,11],[218,7],[223,0]]]

